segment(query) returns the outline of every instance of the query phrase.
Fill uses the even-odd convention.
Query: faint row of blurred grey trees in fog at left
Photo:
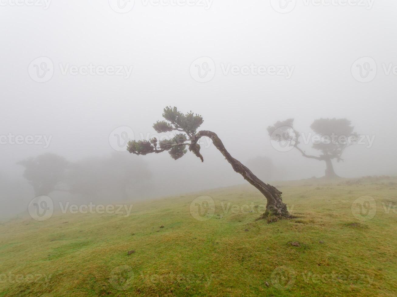
[[[148,191],[152,175],[146,162],[128,157],[115,152],[110,157],[69,162],[46,153],[17,164],[25,168],[23,177],[33,187],[35,196],[62,191],[99,200],[140,198]]]

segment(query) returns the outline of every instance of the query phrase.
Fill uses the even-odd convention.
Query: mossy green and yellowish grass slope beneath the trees
[[[244,185],[1,223],[0,296],[397,295],[397,179],[274,185],[295,219]]]

